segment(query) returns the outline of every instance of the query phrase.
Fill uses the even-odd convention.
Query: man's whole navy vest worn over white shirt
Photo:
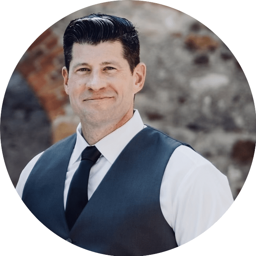
[[[76,134],[47,149],[35,164],[22,195],[32,214],[61,238],[92,252],[142,256],[177,247],[159,196],[168,160],[182,143],[152,127],[142,129],[112,164],[69,230],[63,190],[75,143]]]

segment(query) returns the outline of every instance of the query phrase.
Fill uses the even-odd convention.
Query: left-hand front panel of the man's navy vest
[[[43,154],[44,157],[39,158],[29,175],[22,194],[22,201],[35,217],[62,238],[65,238],[69,232],[64,212],[63,191],[66,170],[75,143],[76,134],[53,145],[51,151],[47,149]],[[54,147],[57,148],[57,154],[52,154]],[[31,183],[34,185],[28,187],[27,184]],[[29,201],[27,198],[30,198]]]

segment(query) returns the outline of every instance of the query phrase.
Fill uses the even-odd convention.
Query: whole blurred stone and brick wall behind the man
[[[7,85],[1,146],[14,186],[35,155],[74,133],[79,119],[63,87],[63,33],[70,20],[91,13],[127,18],[140,32],[147,66],[135,108],[145,124],[183,142],[227,175],[233,197],[252,164],[256,113],[245,74],[210,29],[171,7],[113,1],[72,13],[44,31],[22,56]]]

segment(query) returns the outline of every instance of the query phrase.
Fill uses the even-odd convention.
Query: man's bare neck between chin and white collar
[[[133,116],[132,112],[128,112],[123,116],[121,120],[117,123],[88,123],[86,120],[81,120],[82,135],[89,145],[96,144],[99,140],[112,133],[127,121],[129,121]]]

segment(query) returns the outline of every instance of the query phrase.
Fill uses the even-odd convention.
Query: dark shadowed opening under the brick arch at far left
[[[51,145],[51,124],[34,92],[14,72],[1,112],[1,146],[13,185],[26,164]]]

